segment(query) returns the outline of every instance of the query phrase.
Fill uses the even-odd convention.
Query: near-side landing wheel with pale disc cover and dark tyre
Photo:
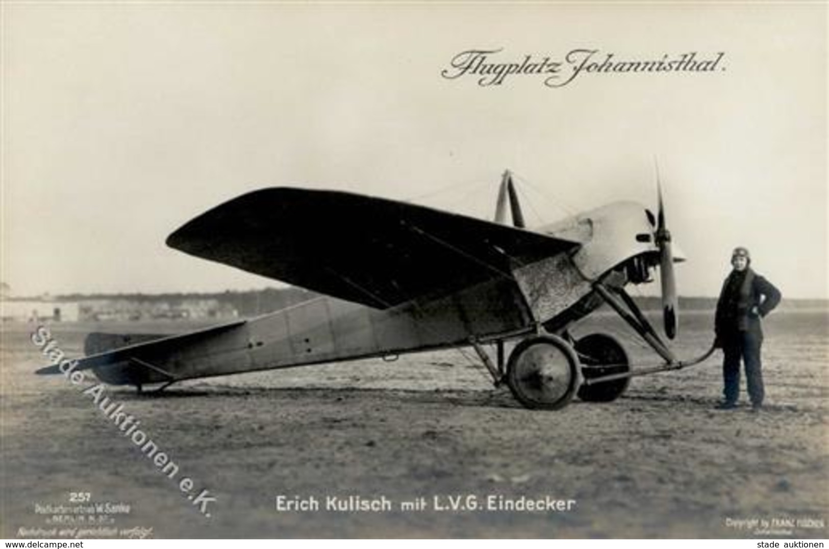
[[[507,385],[528,408],[565,407],[579,387],[579,359],[573,348],[555,335],[527,338],[512,349]]]

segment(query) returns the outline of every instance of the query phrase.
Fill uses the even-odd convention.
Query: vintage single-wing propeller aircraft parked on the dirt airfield
[[[509,171],[494,222],[347,192],[267,188],[199,215],[167,245],[324,295],[183,335],[90,334],[75,370],[91,368],[106,383],[140,391],[184,379],[471,346],[496,385],[506,382],[526,407],[555,409],[576,394],[612,401],[634,375],[690,364],[676,359],[625,291],[652,282],[658,267],[664,331],[674,337],[679,258],[671,251],[661,192],[656,215],[618,202],[527,229]],[[665,363],[631,368],[610,335],[575,340],[570,325],[604,303]],[[519,342],[505,364],[510,340]],[[485,345],[494,345],[494,360]]]

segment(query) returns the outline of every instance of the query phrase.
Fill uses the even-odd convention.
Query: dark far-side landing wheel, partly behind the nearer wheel
[[[584,379],[599,378],[611,373],[628,373],[630,359],[616,338],[607,334],[590,334],[575,342]],[[616,379],[596,385],[582,385],[579,398],[585,402],[611,402],[628,388],[630,378]]]

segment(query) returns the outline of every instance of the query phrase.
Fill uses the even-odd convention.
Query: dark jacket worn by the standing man
[[[753,333],[762,340],[760,319],[779,302],[780,291],[751,268],[731,271],[725,278],[717,301],[714,328],[717,340],[728,340],[739,335],[740,331]]]

